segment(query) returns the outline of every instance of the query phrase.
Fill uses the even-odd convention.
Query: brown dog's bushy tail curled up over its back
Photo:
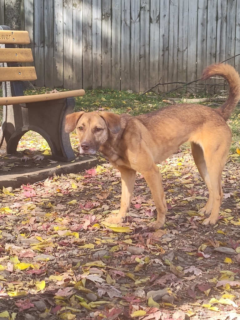
[[[202,80],[206,80],[212,76],[222,76],[228,81],[229,95],[226,102],[217,110],[220,112],[224,120],[228,120],[240,100],[240,77],[236,70],[229,64],[212,64],[204,69]]]

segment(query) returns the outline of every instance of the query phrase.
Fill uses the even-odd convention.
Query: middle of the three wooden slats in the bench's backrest
[[[0,62],[32,62],[31,49],[0,48]]]

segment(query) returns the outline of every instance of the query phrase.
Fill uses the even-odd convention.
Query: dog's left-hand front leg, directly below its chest
[[[129,211],[131,200],[132,200],[132,192],[136,180],[136,171],[132,169],[128,169],[125,167],[117,167],[117,169],[121,173],[122,180],[122,196],[121,196],[121,207],[116,216],[111,215],[107,221],[111,223],[121,223],[123,222],[126,213]]]

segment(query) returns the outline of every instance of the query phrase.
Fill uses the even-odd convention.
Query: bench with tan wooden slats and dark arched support
[[[0,82],[3,84],[3,123],[0,142],[6,141],[7,153],[17,150],[24,133],[33,130],[46,139],[52,151],[52,158],[72,161],[69,134],[64,131],[67,114],[72,113],[76,96],[84,95],[84,90],[57,93],[23,95],[23,81],[36,80],[35,67],[20,67],[18,63],[32,62],[31,49],[15,48],[14,44],[29,44],[27,31],[13,31],[0,26]],[[53,63],[53,62],[52,62]]]

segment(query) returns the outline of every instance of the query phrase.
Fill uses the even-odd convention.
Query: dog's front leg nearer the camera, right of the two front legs
[[[149,223],[148,227],[156,230],[163,227],[165,215],[167,213],[167,204],[164,196],[162,177],[156,164],[152,165],[151,170],[141,173],[147,181],[157,209],[157,220]]]

